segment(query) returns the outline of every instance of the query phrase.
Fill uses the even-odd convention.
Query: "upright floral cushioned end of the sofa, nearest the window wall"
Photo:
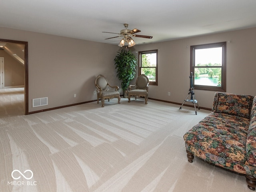
[[[253,96],[216,92],[212,111],[250,119]]]

